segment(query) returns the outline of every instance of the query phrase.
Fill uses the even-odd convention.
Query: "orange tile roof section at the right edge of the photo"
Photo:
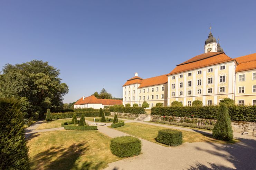
[[[236,72],[256,69],[256,53],[235,58],[238,62]]]

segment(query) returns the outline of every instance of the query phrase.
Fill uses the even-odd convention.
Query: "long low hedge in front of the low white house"
[[[76,114],[76,117],[81,117],[84,114],[84,117],[97,117],[99,111],[81,111],[81,112],[66,112],[66,113],[53,113],[51,114],[52,119],[67,119],[72,118]],[[105,111],[105,116],[110,116],[110,111]]]

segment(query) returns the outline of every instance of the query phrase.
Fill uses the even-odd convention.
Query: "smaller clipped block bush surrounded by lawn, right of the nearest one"
[[[182,132],[172,129],[159,130],[156,140],[165,145],[179,146],[182,144]]]

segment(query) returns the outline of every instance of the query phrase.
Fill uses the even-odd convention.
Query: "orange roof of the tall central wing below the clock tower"
[[[189,70],[194,70],[201,67],[206,67],[210,65],[225,63],[228,61],[234,61],[235,59],[231,59],[224,52],[208,52],[197,55],[192,59],[189,59],[186,62],[178,64],[168,75],[177,74]]]

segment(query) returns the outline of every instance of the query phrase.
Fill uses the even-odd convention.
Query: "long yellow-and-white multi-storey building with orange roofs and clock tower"
[[[135,73],[123,85],[123,104],[141,106],[145,100],[151,108],[156,103],[170,106],[176,100],[191,106],[201,100],[203,105],[217,105],[230,98],[238,105],[256,105],[256,53],[233,59],[211,31],[204,49],[169,74],[143,79]]]

